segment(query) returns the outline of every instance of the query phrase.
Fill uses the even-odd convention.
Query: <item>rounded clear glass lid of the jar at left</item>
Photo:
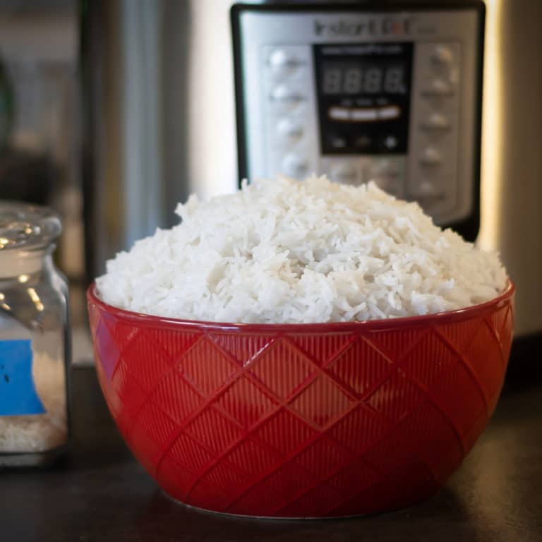
[[[49,207],[0,201],[0,254],[45,247],[61,229],[59,216]]]

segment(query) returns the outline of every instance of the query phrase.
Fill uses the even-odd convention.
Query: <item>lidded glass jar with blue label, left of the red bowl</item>
[[[40,466],[66,450],[68,286],[54,266],[59,217],[0,201],[0,466]]]

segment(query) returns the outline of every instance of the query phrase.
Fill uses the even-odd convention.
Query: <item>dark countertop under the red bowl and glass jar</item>
[[[407,510],[320,521],[224,517],[165,497],[109,418],[91,368],[73,374],[73,448],[52,469],[0,472],[1,542],[542,541],[542,383],[507,385],[440,493]]]

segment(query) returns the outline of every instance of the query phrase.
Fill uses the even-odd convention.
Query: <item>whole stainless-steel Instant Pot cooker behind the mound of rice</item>
[[[85,4],[88,278],[189,193],[316,170],[375,179],[500,251],[516,336],[539,344],[542,4],[233,4]]]

